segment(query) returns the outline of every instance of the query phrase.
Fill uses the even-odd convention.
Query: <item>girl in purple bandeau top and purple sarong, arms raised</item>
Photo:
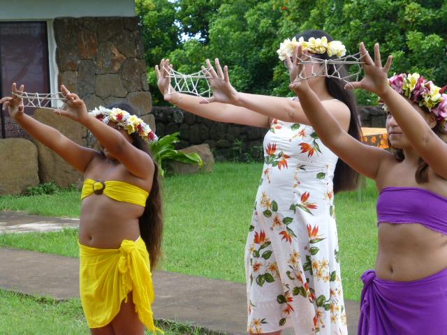
[[[365,78],[351,88],[371,91],[386,105],[393,153],[354,140],[307,82],[291,83],[325,145],[374,179],[380,192],[379,254],[376,271],[362,275],[358,334],[445,334],[447,95],[417,73],[397,75],[388,82],[391,57],[382,68],[377,44],[374,61],[363,44],[360,52],[365,57]],[[296,55],[293,75],[302,68]]]

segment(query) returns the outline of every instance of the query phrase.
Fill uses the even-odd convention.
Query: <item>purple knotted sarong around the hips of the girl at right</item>
[[[447,334],[447,269],[418,281],[362,274],[358,335]]]

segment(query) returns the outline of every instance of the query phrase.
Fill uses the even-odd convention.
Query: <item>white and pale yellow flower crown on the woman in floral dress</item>
[[[324,54],[327,53],[329,57],[337,56],[338,58],[343,57],[346,54],[346,47],[339,40],[332,40],[328,42],[328,38],[323,36],[322,38],[309,38],[305,41],[304,38],[300,37],[298,40],[296,38],[286,38],[283,43],[279,45],[277,53],[279,59],[284,61],[287,57],[292,57],[293,50],[297,45],[302,45],[302,51],[309,50],[313,54]]]

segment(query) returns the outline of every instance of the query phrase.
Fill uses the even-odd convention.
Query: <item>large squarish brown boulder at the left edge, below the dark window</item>
[[[24,138],[0,140],[0,160],[0,195],[17,195],[39,184],[37,148],[33,142]]]

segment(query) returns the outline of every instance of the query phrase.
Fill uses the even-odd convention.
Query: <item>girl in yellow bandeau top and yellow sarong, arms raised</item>
[[[99,107],[89,114],[76,94],[61,90],[68,109],[56,112],[91,131],[101,151],[24,114],[15,95],[0,103],[29,135],[85,175],[78,243],[80,295],[91,334],[144,334],[145,326],[156,332],[150,268],[159,259],[162,220],[157,167],[147,146],[154,133],[128,113],[129,105],[119,106],[127,111]]]

